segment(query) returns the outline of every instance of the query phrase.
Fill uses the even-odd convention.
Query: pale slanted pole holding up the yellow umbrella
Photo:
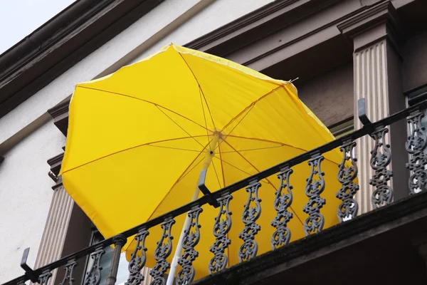
[[[210,147],[209,147],[210,150],[206,150],[206,157],[203,163],[204,170],[207,170],[209,165],[211,165],[212,157],[214,157],[215,155],[214,150],[219,140],[219,134],[214,133],[213,137],[214,138],[212,138]],[[199,198],[199,192],[200,192],[199,186],[196,186],[196,189],[194,189],[193,197],[191,197],[191,202],[194,202],[196,201],[197,198]],[[171,263],[171,269],[169,270],[169,275],[167,276],[167,283],[166,283],[167,285],[172,285],[174,282],[176,267],[178,267],[178,259],[182,251],[182,240],[184,239],[184,232],[185,232],[185,229],[189,227],[190,223],[191,223],[191,219],[187,214],[185,217],[184,226],[182,227],[182,230],[181,230],[181,235],[179,236],[178,244],[176,245],[174,258],[172,259],[172,263]]]

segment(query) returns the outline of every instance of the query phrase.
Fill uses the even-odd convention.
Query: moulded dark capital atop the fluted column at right
[[[391,1],[371,6],[339,23],[337,28],[353,44],[354,52],[383,40],[399,51],[404,40],[403,27]]]

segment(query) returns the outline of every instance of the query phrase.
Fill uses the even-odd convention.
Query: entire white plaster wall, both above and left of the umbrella
[[[26,126],[43,121],[37,119],[71,95],[76,83],[135,62],[167,43],[188,43],[270,1],[164,1],[0,118],[0,149],[9,138],[28,133]],[[19,262],[26,247],[31,247],[28,264],[34,264],[53,194],[46,160],[58,155],[63,145],[65,138],[49,121],[4,155],[0,165],[0,284],[23,274]]]

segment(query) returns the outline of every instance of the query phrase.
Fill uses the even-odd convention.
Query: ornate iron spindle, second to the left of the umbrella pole
[[[136,247],[132,254],[130,254],[130,261],[127,266],[129,269],[129,278],[125,285],[139,285],[144,281],[144,275],[141,270],[144,268],[145,261],[147,261],[147,248],[145,247],[145,238],[149,235],[147,229],[144,227],[139,229],[138,234],[135,236]]]

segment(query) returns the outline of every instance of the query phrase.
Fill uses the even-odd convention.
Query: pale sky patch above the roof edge
[[[75,0],[0,0],[0,54]]]

